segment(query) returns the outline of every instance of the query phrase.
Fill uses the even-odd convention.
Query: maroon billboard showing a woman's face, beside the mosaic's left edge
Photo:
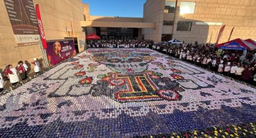
[[[50,65],[55,65],[76,54],[73,40],[51,40],[47,42],[46,54]]]

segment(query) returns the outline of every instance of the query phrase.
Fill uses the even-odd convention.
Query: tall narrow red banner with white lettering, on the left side
[[[40,15],[40,10],[39,10],[39,5],[36,5],[36,14],[37,14],[37,22],[39,26],[39,32],[40,32],[40,37],[43,43],[43,48],[47,48],[47,43],[46,43],[46,38],[45,38],[45,31],[43,30],[43,23],[41,20],[41,15]]]

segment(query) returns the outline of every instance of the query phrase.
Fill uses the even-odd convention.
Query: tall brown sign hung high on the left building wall
[[[40,36],[33,0],[4,0],[17,46],[39,44]]]

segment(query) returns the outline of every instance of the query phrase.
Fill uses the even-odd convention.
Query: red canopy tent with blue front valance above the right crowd
[[[229,50],[254,50],[256,47],[254,44],[249,43],[245,40],[237,38],[222,44],[217,44],[215,47],[219,49],[229,49]]]

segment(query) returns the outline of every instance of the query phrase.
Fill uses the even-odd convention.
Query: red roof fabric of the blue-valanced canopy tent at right
[[[254,49],[256,49],[256,46],[254,46],[254,44],[249,43],[248,41],[242,40],[240,38],[237,38],[235,40],[231,40],[231,41],[228,41],[228,42],[225,42],[225,43],[217,44],[215,47],[219,48],[219,47],[226,46],[229,43],[233,43],[233,42],[238,43],[240,46],[245,47],[247,50],[254,50]]]

